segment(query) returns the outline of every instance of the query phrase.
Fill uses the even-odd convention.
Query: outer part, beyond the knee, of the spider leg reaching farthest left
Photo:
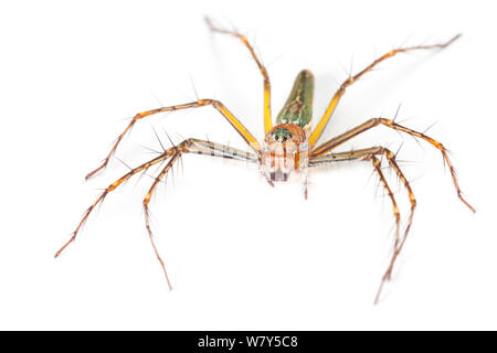
[[[117,189],[117,186],[119,186],[120,184],[123,184],[125,181],[127,181],[129,178],[131,178],[133,175],[135,175],[136,173],[139,173],[141,171],[146,171],[148,170],[150,167],[162,162],[165,160],[167,160],[168,158],[170,158],[172,154],[175,153],[175,149],[170,148],[168,150],[166,150],[162,154],[160,154],[159,157],[137,167],[131,169],[129,172],[127,172],[126,174],[124,174],[121,178],[119,178],[118,180],[116,180],[115,182],[113,182],[112,184],[109,184],[107,186],[107,189],[105,189],[102,194],[95,200],[95,202],[86,210],[86,212],[84,213],[82,220],[80,221],[80,223],[77,224],[76,229],[73,232],[73,235],[71,236],[71,238],[67,240],[67,243],[64,244],[64,246],[62,246],[59,252],[55,254],[55,257],[57,257],[59,255],[61,255],[61,253],[71,244],[76,239],[76,235],[80,232],[81,227],[83,226],[83,224],[86,222],[86,220],[88,218],[89,214],[92,213],[92,211],[104,201],[104,199],[114,190]]]

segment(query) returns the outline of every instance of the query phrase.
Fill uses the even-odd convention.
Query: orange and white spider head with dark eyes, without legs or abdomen
[[[264,139],[261,161],[263,173],[273,182],[286,182],[306,168],[308,143],[303,128],[296,124],[274,127]]]

